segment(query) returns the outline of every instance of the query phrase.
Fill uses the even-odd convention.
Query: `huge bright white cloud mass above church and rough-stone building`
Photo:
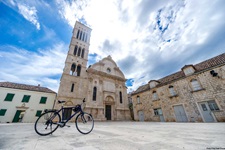
[[[204,45],[222,29],[225,17],[224,3],[210,0],[57,2],[71,27],[75,20],[85,19],[92,28],[90,53],[97,53],[99,59],[111,55],[121,63],[126,78],[134,78],[133,89],[196,62],[194,55],[204,53]]]

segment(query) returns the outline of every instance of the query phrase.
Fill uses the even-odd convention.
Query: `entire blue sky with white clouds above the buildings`
[[[128,92],[225,52],[224,0],[0,0],[0,82],[58,92],[76,21],[88,65],[108,55]]]

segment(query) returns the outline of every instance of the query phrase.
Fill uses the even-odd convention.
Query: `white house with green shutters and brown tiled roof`
[[[56,93],[45,87],[0,82],[0,123],[35,122],[55,99]]]

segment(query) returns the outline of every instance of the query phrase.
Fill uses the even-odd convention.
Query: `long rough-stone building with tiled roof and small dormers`
[[[224,122],[225,53],[150,80],[132,101],[136,121]]]

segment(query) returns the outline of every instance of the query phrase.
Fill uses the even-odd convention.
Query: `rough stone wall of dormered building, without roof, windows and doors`
[[[212,111],[216,121],[225,121],[225,66],[214,68],[218,76],[213,77],[210,70],[193,74],[185,78],[173,81],[166,85],[151,88],[150,90],[132,95],[134,118],[139,120],[138,112],[144,112],[145,121],[160,121],[159,116],[154,114],[154,109],[161,108],[164,120],[167,122],[176,121],[174,106],[183,106],[189,122],[203,122],[204,118],[199,108],[199,102],[214,100],[219,107],[218,111]],[[194,91],[191,80],[197,79],[201,89]],[[169,86],[173,86],[176,92],[171,96]],[[158,100],[153,100],[153,91],[158,94]],[[137,96],[141,103],[137,103]]]

